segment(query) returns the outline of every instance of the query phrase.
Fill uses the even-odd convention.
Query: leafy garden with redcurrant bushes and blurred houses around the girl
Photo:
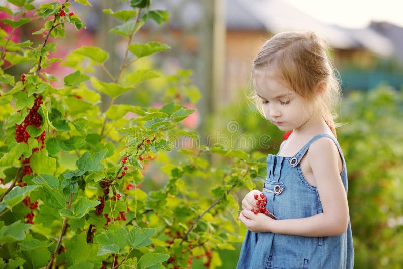
[[[283,1],[0,3],[0,267],[234,268],[240,201],[283,140],[251,62],[298,27],[341,75],[355,266],[403,263],[402,28]]]

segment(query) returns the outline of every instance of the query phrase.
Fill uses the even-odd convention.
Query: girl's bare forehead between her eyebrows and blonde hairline
[[[253,73],[253,86],[257,95],[264,98],[275,98],[283,95],[292,95],[294,91],[272,72],[255,70]]]

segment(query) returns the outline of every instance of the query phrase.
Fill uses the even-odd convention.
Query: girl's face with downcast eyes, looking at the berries
[[[298,129],[312,116],[312,104],[269,72],[256,70],[253,84],[263,104],[265,117],[280,130]]]

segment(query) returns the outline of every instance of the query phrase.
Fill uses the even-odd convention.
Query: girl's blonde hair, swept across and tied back
[[[256,70],[270,71],[285,82],[295,93],[319,104],[322,117],[336,135],[333,112],[341,89],[338,73],[326,54],[328,46],[315,33],[283,32],[274,35],[261,48],[253,62],[252,77]],[[317,91],[322,83],[322,91]],[[262,102],[254,90],[253,98],[264,116]]]

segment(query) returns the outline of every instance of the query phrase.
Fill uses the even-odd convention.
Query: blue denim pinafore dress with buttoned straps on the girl
[[[300,160],[319,138],[329,137],[343,161],[341,178],[347,193],[347,171],[339,143],[328,134],[314,136],[293,157],[268,155],[263,193],[266,208],[280,219],[305,218],[323,212],[319,193],[304,178]],[[268,217],[267,217],[268,218]],[[237,269],[263,268],[353,268],[354,250],[350,221],[347,231],[337,236],[305,237],[246,232]]]

